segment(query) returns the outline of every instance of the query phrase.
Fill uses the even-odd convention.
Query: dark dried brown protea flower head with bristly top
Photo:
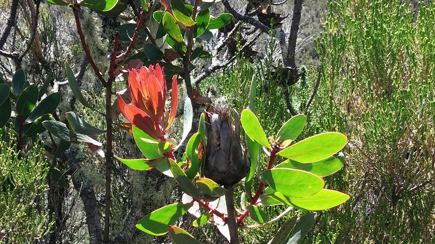
[[[207,146],[204,176],[230,188],[243,179],[249,170],[247,151],[240,143],[240,117],[227,104],[209,106],[206,113]]]

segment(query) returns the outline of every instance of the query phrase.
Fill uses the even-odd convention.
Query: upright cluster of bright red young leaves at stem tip
[[[126,104],[118,94],[118,107],[122,115],[153,139],[166,140],[165,132],[174,122],[178,102],[176,76],[172,78],[170,114],[165,111],[166,80],[163,68],[159,64],[155,65],[155,68],[150,65],[148,69],[145,67],[132,69],[129,72],[129,86],[133,104]]]

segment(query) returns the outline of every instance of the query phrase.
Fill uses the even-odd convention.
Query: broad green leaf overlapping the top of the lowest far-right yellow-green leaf
[[[315,174],[289,168],[273,168],[261,174],[261,181],[287,197],[306,197],[319,192],[325,182]]]

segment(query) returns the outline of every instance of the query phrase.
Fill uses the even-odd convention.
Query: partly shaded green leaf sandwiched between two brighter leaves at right
[[[344,154],[340,153],[337,156],[319,160],[313,163],[299,163],[293,160],[286,160],[275,166],[275,168],[294,168],[313,173],[319,177],[324,177],[337,172],[344,163]]]

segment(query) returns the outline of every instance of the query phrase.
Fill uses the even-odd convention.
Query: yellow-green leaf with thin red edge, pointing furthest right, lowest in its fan
[[[329,209],[348,201],[350,196],[339,191],[322,189],[304,198],[289,198],[290,205],[303,210],[319,211]]]

